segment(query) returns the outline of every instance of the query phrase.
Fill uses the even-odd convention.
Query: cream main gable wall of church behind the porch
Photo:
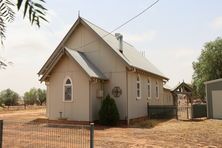
[[[92,41],[95,42],[86,47],[78,48]],[[82,24],[80,24],[70,36],[66,46],[71,49],[78,48],[78,51],[84,52],[87,58],[92,61],[92,63],[109,79],[108,82],[104,84],[104,97],[107,94],[112,96],[111,92],[115,86],[119,86],[122,89],[122,95],[120,97],[112,97],[116,101],[120,113],[120,119],[125,120],[126,68],[121,58],[116,53],[114,53],[113,49],[111,49],[102,39],[98,38],[98,36],[95,35],[92,30],[89,30]],[[95,90],[95,88],[92,89]],[[95,111],[99,110],[100,103],[101,101],[96,101],[96,103],[93,103],[93,116],[95,116],[95,119],[97,119]],[[96,108],[94,109],[94,107]]]

